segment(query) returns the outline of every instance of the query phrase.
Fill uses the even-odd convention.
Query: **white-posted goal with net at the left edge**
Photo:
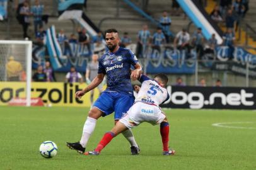
[[[26,98],[30,106],[32,42],[0,40],[0,105]]]

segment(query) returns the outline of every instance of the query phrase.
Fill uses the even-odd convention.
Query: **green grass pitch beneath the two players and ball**
[[[164,110],[170,122],[175,156],[161,155],[160,127],[134,128],[139,156],[119,135],[100,156],[83,156],[66,147],[81,137],[88,108],[0,107],[0,169],[256,169],[256,111]],[[231,127],[212,123],[233,122]],[[254,122],[254,123],[234,123]],[[113,115],[100,118],[86,150],[92,150],[113,127]],[[58,154],[45,159],[41,142],[52,140]]]

